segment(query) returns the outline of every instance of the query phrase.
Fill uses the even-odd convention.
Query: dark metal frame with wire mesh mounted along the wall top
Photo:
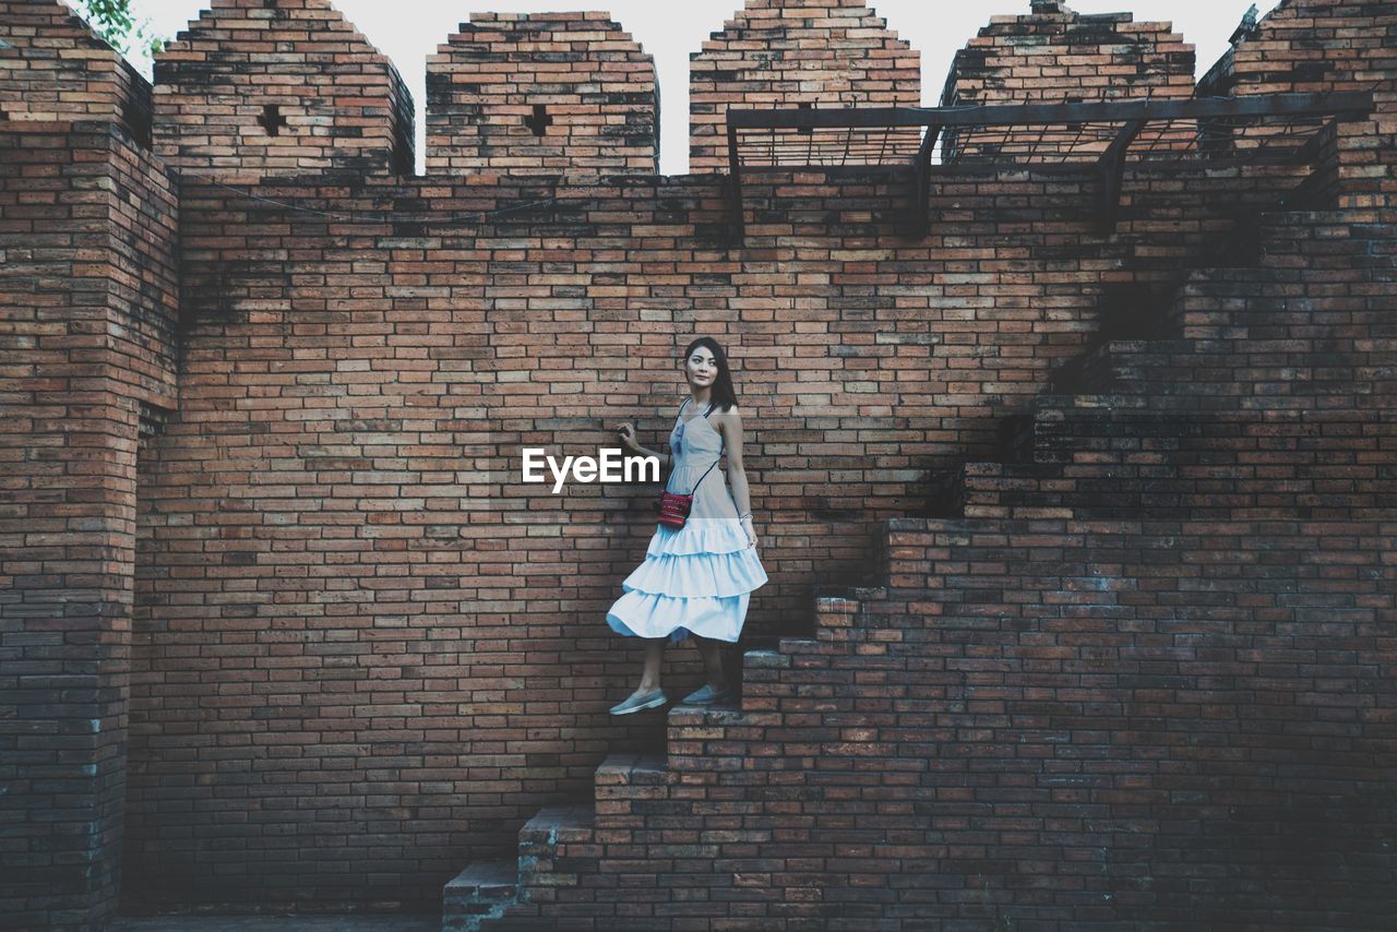
[[[943,134],[949,136],[957,130],[985,130],[985,129],[1009,129],[1009,127],[1038,127],[1039,138],[1042,138],[1042,130],[1052,126],[1067,126],[1078,127],[1078,133],[1084,130],[1088,124],[1111,124],[1115,126],[1115,138],[1109,143],[1106,150],[1099,155],[1094,155],[1092,159],[1087,161],[1070,161],[1060,159],[1053,163],[1051,159],[1044,162],[1007,162],[1016,168],[1032,166],[1035,170],[1045,166],[1056,165],[1058,168],[1070,168],[1074,170],[1091,170],[1101,182],[1101,194],[1098,198],[1098,214],[1101,218],[1101,229],[1104,235],[1109,235],[1115,229],[1116,214],[1120,205],[1120,191],[1125,179],[1125,168],[1127,161],[1134,163],[1155,163],[1161,162],[1182,162],[1179,158],[1180,152],[1175,150],[1158,150],[1154,144],[1143,147],[1143,151],[1136,151],[1134,144],[1139,140],[1141,131],[1150,124],[1168,124],[1173,122],[1192,122],[1197,123],[1199,127],[1206,124],[1213,124],[1215,127],[1222,127],[1224,130],[1245,127],[1248,124],[1267,126],[1268,123],[1282,122],[1281,129],[1289,130],[1301,123],[1315,123],[1316,126],[1301,127],[1303,134],[1313,133],[1301,145],[1288,147],[1274,147],[1281,148],[1281,158],[1264,158],[1261,148],[1249,151],[1245,155],[1236,156],[1234,162],[1242,163],[1260,163],[1260,162],[1285,162],[1285,163],[1306,163],[1312,162],[1315,154],[1319,151],[1320,140],[1323,138],[1323,130],[1329,129],[1337,120],[1361,119],[1370,115],[1373,110],[1372,94],[1365,91],[1343,91],[1343,92],[1326,92],[1326,94],[1268,94],[1256,96],[1213,96],[1213,98],[1187,98],[1187,99],[1130,99],[1130,101],[1092,101],[1083,103],[1011,103],[1011,105],[970,105],[970,106],[940,106],[940,108],[901,108],[901,106],[879,106],[879,108],[841,108],[841,109],[778,109],[778,110],[752,110],[752,109],[729,109],[726,115],[728,123],[728,210],[731,212],[732,225],[736,232],[738,239],[743,235],[743,217],[742,217],[742,179],[743,175],[766,173],[766,172],[789,172],[800,170],[803,168],[817,168],[824,170],[831,170],[828,166],[823,165],[799,165],[799,163],[780,163],[780,165],[756,165],[752,162],[743,162],[742,159],[742,140],[739,138],[743,133],[760,133],[780,131],[780,130],[803,130],[812,131],[817,129],[845,129],[845,130],[863,130],[873,131],[882,130],[884,133],[900,127],[926,127],[926,133],[922,136],[921,144],[918,147],[916,155],[911,165],[905,161],[900,162],[872,162],[862,165],[848,165],[847,169],[852,170],[888,170],[894,175],[911,173],[915,179],[915,187],[911,196],[911,215],[914,218],[914,228],[921,233],[926,233],[928,221],[928,207],[930,200],[932,189],[932,154],[936,148],[939,138]],[[1299,134],[1289,133],[1288,136],[1277,136],[1275,138],[1288,138],[1294,141]],[[1164,131],[1157,134],[1155,140],[1164,138]],[[887,137],[884,136],[884,143]],[[944,140],[943,140],[944,143]],[[810,143],[813,147],[813,141]],[[770,145],[771,151],[775,151],[774,137]],[[1037,143],[1030,148],[1030,156],[1037,152]],[[1173,159],[1151,159],[1151,155],[1165,152],[1173,155]],[[1130,159],[1134,154],[1136,158]],[[1185,154],[1197,159],[1200,156],[1197,150],[1186,150]],[[882,155],[882,152],[880,152]],[[1203,163],[1218,165],[1225,163],[1224,159],[1207,158]],[[985,168],[986,165],[993,168],[1003,168],[1004,161],[986,162],[977,159],[978,168]],[[1197,163],[1197,162],[1194,162]]]

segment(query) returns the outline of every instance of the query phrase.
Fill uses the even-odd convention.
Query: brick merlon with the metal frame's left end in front
[[[921,56],[852,0],[747,0],[689,56],[689,170],[728,170],[724,115],[738,108],[919,106]],[[890,145],[916,148],[916,130]],[[854,131],[851,145],[883,143]]]

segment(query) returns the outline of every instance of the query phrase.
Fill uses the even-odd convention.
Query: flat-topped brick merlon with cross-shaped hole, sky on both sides
[[[427,57],[427,170],[657,173],[655,63],[605,13],[476,13]]]

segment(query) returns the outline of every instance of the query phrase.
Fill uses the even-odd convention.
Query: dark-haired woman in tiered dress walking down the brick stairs
[[[718,643],[738,640],[752,591],[767,583],[757,555],[747,476],[742,471],[742,415],[728,358],[717,341],[700,337],[689,344],[682,365],[690,397],[680,405],[669,435],[672,454],[636,443],[630,423],[616,428],[627,450],[673,467],[666,492],[693,495],[694,500],[682,528],[659,525],[650,539],[645,562],[626,577],[624,594],[606,612],[612,630],[645,639],[640,687],[612,707],[613,715],[669,701],[659,686],[666,637],[680,641],[694,634],[703,655],[708,682],[686,696],[685,703],[707,706],[732,699]],[[714,468],[724,451],[731,493],[722,471]]]

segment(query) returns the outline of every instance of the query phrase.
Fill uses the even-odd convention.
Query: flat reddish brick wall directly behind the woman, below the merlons
[[[641,658],[604,613],[658,486],[564,503],[517,469],[522,446],[594,453],[622,419],[661,443],[694,333],[731,349],[752,412],[773,583],[745,646],[771,643],[807,629],[814,581],[866,571],[882,520],[993,454],[1112,282],[1172,281],[1229,229],[1229,198],[1289,183],[1130,173],[1099,240],[1090,176],[947,177],[937,232],[909,243],[902,186],[803,173],[753,183],[764,236],[739,256],[712,177],[578,183],[488,222],[460,218],[552,179],[247,189],[352,224],[187,182],[182,408],[142,504],[127,894],[426,901],[608,749],[651,742],[605,714]],[[666,669],[697,685],[690,648]]]

